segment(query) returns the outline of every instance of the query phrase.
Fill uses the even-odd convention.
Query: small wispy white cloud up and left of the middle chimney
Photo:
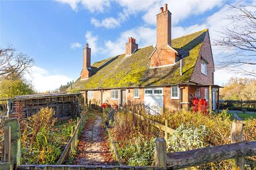
[[[114,19],[113,17],[103,19],[102,21],[92,18],[91,23],[95,27],[105,27],[107,29],[116,28],[116,27],[120,26],[119,21]]]

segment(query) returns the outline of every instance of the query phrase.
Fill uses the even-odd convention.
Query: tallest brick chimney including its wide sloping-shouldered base
[[[156,48],[150,55],[151,68],[175,64],[178,52],[171,47],[171,12],[167,4],[156,15]]]

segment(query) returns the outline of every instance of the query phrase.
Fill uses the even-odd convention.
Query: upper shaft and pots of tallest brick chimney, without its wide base
[[[156,47],[161,48],[169,44],[171,46],[171,12],[167,4],[160,8],[160,13],[156,15]]]

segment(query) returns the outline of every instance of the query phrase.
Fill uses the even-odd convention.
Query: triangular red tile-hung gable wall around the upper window
[[[202,58],[204,58],[204,60],[208,62],[207,75],[201,72],[201,63],[203,61],[201,56]],[[213,63],[213,57],[212,57],[212,49],[211,49],[209,32],[207,32],[190,81],[198,84],[213,84],[213,72],[214,72],[214,63]]]

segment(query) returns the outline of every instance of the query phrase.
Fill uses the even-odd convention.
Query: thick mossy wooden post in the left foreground
[[[20,124],[17,118],[10,118],[5,121],[4,127],[11,128],[11,161],[10,162],[13,163],[13,168],[17,169],[17,167],[21,163]]]

